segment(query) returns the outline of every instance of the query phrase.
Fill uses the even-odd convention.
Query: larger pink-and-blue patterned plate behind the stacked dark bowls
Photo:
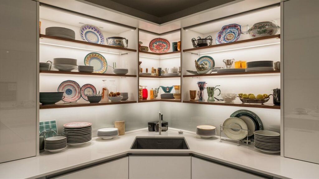
[[[65,96],[65,98],[62,100],[64,102],[78,101],[81,97],[80,85],[72,80],[62,82],[58,87],[58,91],[64,92],[63,96]]]

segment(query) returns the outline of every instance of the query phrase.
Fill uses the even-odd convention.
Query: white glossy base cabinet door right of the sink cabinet
[[[192,179],[261,178],[233,168],[192,157]]]

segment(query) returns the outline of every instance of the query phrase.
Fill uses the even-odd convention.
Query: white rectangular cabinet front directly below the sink
[[[190,179],[190,156],[129,156],[130,179]]]

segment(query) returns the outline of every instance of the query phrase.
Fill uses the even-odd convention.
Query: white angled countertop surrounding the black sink
[[[278,154],[265,154],[254,148],[230,141],[219,142],[219,137],[202,139],[195,132],[169,128],[162,137],[185,137],[190,150],[146,150],[130,149],[137,136],[159,136],[158,132],[148,132],[147,128],[126,132],[112,140],[93,138],[85,146],[69,147],[59,153],[43,152],[40,156],[0,164],[0,178],[36,178],[75,168],[92,162],[105,160],[117,155],[138,152],[193,153],[223,161],[243,168],[258,171],[279,178],[318,178],[319,165],[280,157]],[[23,150],[23,149],[21,149]],[[22,151],[21,151],[22,152]]]

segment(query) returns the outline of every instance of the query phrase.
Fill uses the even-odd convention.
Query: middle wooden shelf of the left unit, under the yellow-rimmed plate
[[[137,77],[136,75],[117,75],[117,74],[107,74],[107,73],[88,73],[88,72],[52,71],[52,70],[40,70],[40,74],[82,75],[82,76],[114,76],[114,77]]]

